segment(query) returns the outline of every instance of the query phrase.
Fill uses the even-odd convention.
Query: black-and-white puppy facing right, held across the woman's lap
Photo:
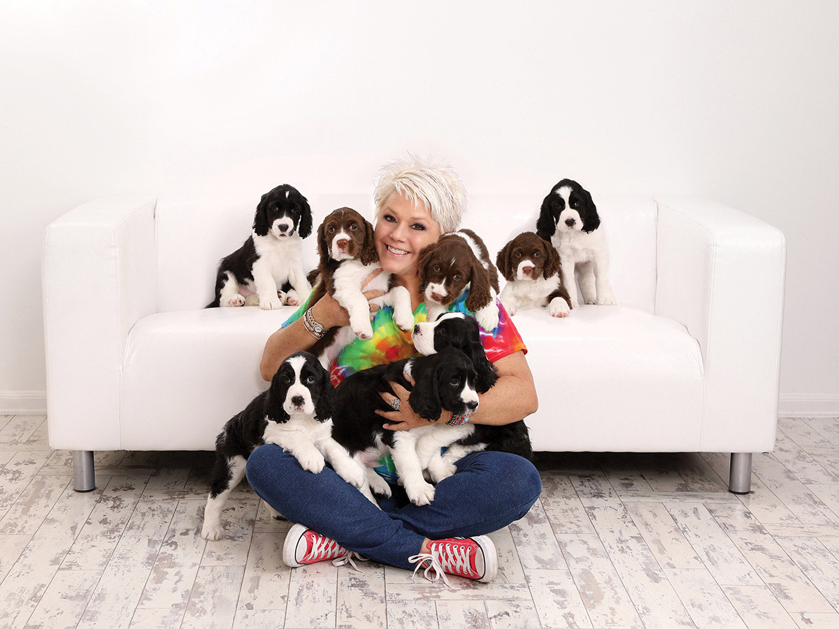
[[[405,379],[405,373],[414,379],[413,387]],[[477,372],[462,351],[445,347],[432,356],[409,358],[355,372],[336,387],[332,437],[367,468],[367,483],[362,486],[362,493],[372,499],[372,489],[390,496],[388,483],[373,470],[389,450],[410,501],[415,505],[427,505],[434,500],[435,488],[423,477],[417,442],[434,430],[436,424],[398,432],[383,429],[383,418],[376,411],[393,410],[379,395],[379,392],[393,395],[388,382],[398,382],[409,389],[411,408],[420,417],[433,422],[443,411],[456,415],[474,412],[478,406]]]

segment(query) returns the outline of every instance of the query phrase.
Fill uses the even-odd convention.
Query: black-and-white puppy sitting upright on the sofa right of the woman
[[[577,299],[575,270],[586,304],[614,305],[609,283],[609,250],[591,194],[576,181],[562,179],[542,201],[536,233],[560,252],[562,283]]]

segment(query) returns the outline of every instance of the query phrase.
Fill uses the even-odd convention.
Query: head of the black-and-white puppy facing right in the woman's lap
[[[411,366],[416,383],[408,402],[421,418],[433,422],[444,410],[463,415],[477,408],[477,373],[462,351],[444,347],[432,356],[412,359]]]

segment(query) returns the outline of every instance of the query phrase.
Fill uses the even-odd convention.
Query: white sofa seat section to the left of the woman
[[[268,387],[259,375],[265,341],[294,310],[211,308],[139,320],[122,368],[122,447],[214,450],[225,422]]]

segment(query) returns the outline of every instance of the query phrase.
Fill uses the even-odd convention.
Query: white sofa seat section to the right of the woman
[[[699,450],[703,366],[684,325],[620,305],[519,310],[513,323],[539,395],[535,450]]]

